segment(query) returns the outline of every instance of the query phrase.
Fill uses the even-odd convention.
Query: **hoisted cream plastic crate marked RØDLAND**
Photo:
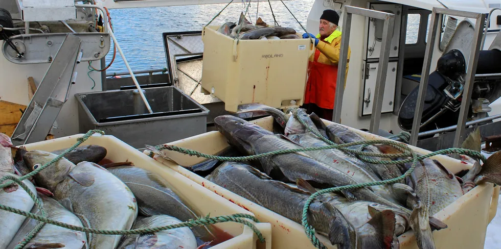
[[[274,108],[303,104],[308,58],[314,48],[310,39],[239,40],[237,44],[217,32],[219,27],[202,31],[202,92],[221,99],[229,112],[250,103]]]

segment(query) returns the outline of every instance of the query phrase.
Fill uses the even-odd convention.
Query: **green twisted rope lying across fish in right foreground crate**
[[[295,152],[307,152],[307,151],[316,151],[316,150],[329,150],[332,148],[343,150],[346,152],[351,152],[354,153],[355,155],[361,155],[361,156],[371,156],[371,157],[380,157],[380,158],[398,158],[398,157],[409,157],[411,156],[412,158],[409,159],[404,159],[404,160],[376,160],[372,158],[366,158],[366,157],[361,157],[362,161],[374,163],[374,164],[401,164],[401,163],[411,163],[412,166],[400,177],[394,178],[394,179],[388,179],[384,181],[377,181],[377,182],[368,182],[368,183],[360,183],[360,184],[354,184],[354,185],[345,185],[345,186],[339,186],[339,187],[334,187],[334,188],[328,188],[328,189],[323,189],[320,191],[315,192],[312,194],[308,200],[305,203],[305,206],[303,208],[303,214],[302,214],[302,225],[305,228],[305,233],[306,236],[310,239],[312,244],[319,249],[325,249],[324,244],[318,240],[318,238],[315,236],[315,230],[309,225],[308,223],[308,218],[307,218],[307,213],[310,204],[313,202],[314,198],[316,198],[318,195],[324,194],[324,193],[330,193],[330,192],[336,192],[340,190],[348,190],[348,189],[356,189],[356,188],[363,188],[363,187],[370,187],[370,186],[377,186],[377,185],[386,185],[386,184],[394,184],[397,182],[400,182],[401,180],[405,179],[406,177],[410,176],[411,173],[414,171],[417,163],[425,158],[437,156],[437,155],[444,155],[444,154],[453,154],[453,153],[458,153],[458,154],[463,154],[463,155],[468,155],[472,157],[479,158],[483,161],[485,161],[485,157],[476,151],[473,150],[467,150],[463,148],[448,148],[445,150],[440,150],[436,152],[432,152],[426,155],[418,155],[415,153],[411,148],[409,148],[406,144],[403,144],[401,142],[397,141],[392,141],[392,140],[365,140],[365,141],[357,141],[357,142],[352,142],[352,143],[345,143],[345,144],[335,144],[334,142],[330,141],[329,139],[325,138],[322,136],[319,132],[315,131],[313,128],[311,128],[304,120],[299,118],[299,115],[297,114],[297,111],[293,112],[293,115],[295,118],[297,118],[303,126],[305,126],[310,132],[315,134],[317,137],[321,138],[325,142],[331,144],[328,146],[318,146],[318,147],[303,147],[303,148],[294,148],[294,149],[289,149],[289,150],[279,150],[279,151],[274,151],[274,152],[267,152],[267,153],[262,153],[262,154],[257,154],[253,156],[244,156],[244,157],[220,157],[220,156],[214,156],[214,155],[209,155],[205,153],[201,153],[198,151],[190,150],[187,148],[183,147],[177,147],[174,145],[158,145],[155,146],[155,148],[158,151],[162,150],[168,150],[168,151],[176,151],[179,153],[187,154],[190,156],[197,156],[197,157],[204,157],[204,158],[209,158],[209,159],[216,159],[219,161],[247,161],[247,160],[253,160],[261,157],[267,157],[267,156],[273,156],[273,155],[278,155],[278,154],[286,154],[286,153],[295,153]],[[397,135],[398,136],[398,135]],[[382,154],[382,153],[367,153],[367,152],[361,152],[360,150],[353,150],[348,147],[354,146],[354,145],[371,145],[371,144],[387,144],[390,146],[394,146],[399,148],[402,151],[407,151],[401,154]],[[154,153],[151,152],[149,154],[150,156],[153,156]]]

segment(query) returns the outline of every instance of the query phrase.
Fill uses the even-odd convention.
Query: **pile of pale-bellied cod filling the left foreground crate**
[[[0,178],[26,175],[65,150],[27,152],[13,147],[10,138],[0,133]],[[102,146],[79,146],[23,183],[37,195],[47,218],[77,227],[142,229],[200,217],[163,178],[130,162],[113,163],[106,154]],[[0,204],[41,215],[17,184],[0,189]],[[37,224],[32,218],[0,210],[0,249],[14,248]],[[201,249],[211,247],[211,241],[217,238],[208,227],[122,236],[86,234],[46,223],[24,248]]]

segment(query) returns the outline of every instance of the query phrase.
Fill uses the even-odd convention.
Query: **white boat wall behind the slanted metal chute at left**
[[[12,102],[20,105],[28,105],[28,77],[33,77],[35,85],[38,87],[45,72],[49,68],[49,63],[19,65],[8,61],[3,53],[0,53],[0,68],[2,78],[0,80],[0,99],[2,101]],[[92,63],[94,68],[100,68],[101,63],[95,61]],[[90,72],[90,77],[96,81],[96,86],[87,76],[88,63],[82,61],[77,65],[76,84],[71,86],[67,102],[59,112],[56,119],[58,127],[64,127],[63,131],[54,130],[56,137],[70,136],[79,133],[78,129],[78,103],[75,98],[77,92],[95,92],[101,91],[101,72]]]

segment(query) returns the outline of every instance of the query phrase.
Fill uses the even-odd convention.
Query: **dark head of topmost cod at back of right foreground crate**
[[[214,123],[217,130],[223,134],[231,145],[237,147],[241,152],[248,154],[252,150],[249,141],[252,141],[254,137],[273,135],[272,132],[257,124],[247,122],[232,115],[218,116],[214,118]]]

